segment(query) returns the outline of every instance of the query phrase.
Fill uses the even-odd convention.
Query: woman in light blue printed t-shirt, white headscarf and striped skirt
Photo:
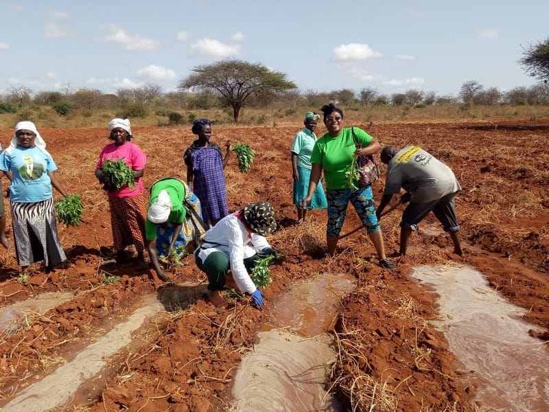
[[[57,165],[32,122],[19,122],[10,146],[0,156],[0,170],[11,179],[10,205],[15,252],[25,272],[44,261],[46,272],[67,257],[57,233],[52,187],[67,197],[55,176]],[[11,172],[11,174],[10,174]]]

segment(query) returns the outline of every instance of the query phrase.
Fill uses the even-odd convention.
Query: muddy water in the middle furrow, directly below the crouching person
[[[336,360],[326,332],[352,288],[352,277],[323,273],[274,303],[272,321],[237,371],[231,410],[342,411],[324,385]]]

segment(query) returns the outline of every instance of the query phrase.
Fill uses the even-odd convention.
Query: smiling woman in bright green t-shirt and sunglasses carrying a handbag
[[[379,152],[381,150],[379,141],[364,130],[355,127],[356,140],[362,146],[360,148],[356,147],[353,130],[342,127],[343,111],[334,106],[333,103],[325,104],[321,110],[324,113],[324,124],[328,133],[320,137],[314,145],[311,155],[312,171],[309,180],[309,192],[303,200],[303,205],[311,202],[320,174],[324,170],[328,200],[326,243],[329,255],[334,256],[336,253],[339,234],[350,201],[375,247],[379,258],[379,266],[393,269],[395,265],[385,255],[381,226],[379,226],[375,216],[371,185],[359,187],[355,190],[347,187],[345,182],[345,172],[351,168],[353,156],[373,155]]]

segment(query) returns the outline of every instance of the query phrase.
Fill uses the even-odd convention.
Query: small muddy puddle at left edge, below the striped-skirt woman
[[[38,317],[74,297],[71,292],[43,293],[0,309],[0,332],[17,330],[27,317]]]

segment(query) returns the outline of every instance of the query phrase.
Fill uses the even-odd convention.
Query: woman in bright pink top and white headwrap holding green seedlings
[[[145,268],[145,197],[143,192],[143,173],[145,172],[145,163],[147,157],[143,151],[131,140],[132,129],[128,119],[112,119],[108,123],[110,130],[109,139],[113,143],[106,145],[97,161],[95,176],[97,180],[104,184],[104,189],[108,193],[108,203],[110,205],[110,226],[113,229],[113,243],[116,251],[117,264],[124,262],[124,249],[130,244],[135,245],[139,266]],[[124,163],[133,171],[135,185],[130,187],[124,185],[117,189],[116,187],[107,187],[106,180],[102,172],[105,160],[117,161],[124,158]]]

